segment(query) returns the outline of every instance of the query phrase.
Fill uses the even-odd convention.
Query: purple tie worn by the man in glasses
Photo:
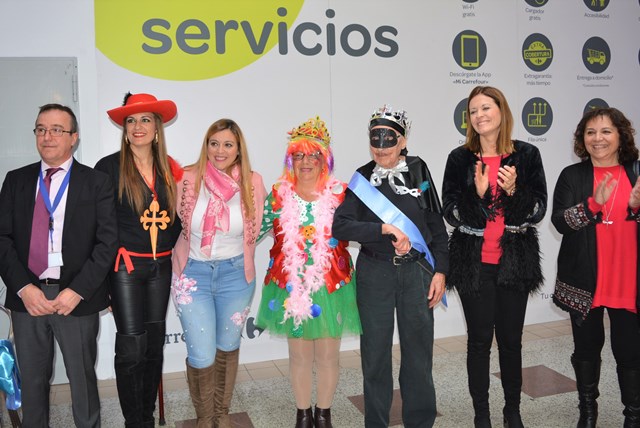
[[[49,168],[44,177],[47,191],[51,188],[51,176],[62,168]],[[29,269],[40,276],[49,266],[49,212],[44,204],[42,193],[38,191],[36,206],[33,209],[33,223],[31,224],[31,243],[29,244]]]

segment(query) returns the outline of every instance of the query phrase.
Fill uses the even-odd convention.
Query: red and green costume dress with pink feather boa
[[[331,179],[318,200],[308,202],[291,183],[280,182],[267,197],[260,236],[273,228],[274,244],[255,323],[271,335],[314,340],[362,334],[349,243],[331,237],[345,190]]]

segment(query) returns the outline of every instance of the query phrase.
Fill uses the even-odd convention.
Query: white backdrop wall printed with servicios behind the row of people
[[[170,153],[184,165],[195,161],[204,132],[213,121],[221,117],[236,120],[247,137],[253,168],[263,175],[268,186],[281,172],[286,132],[315,115],[325,119],[331,131],[335,174],[348,181],[352,172],[370,159],[366,134],[369,115],[376,107],[390,103],[408,111],[413,120],[408,143],[410,154],[427,161],[435,185],[440,189],[447,155],[463,142],[461,112],[456,107],[477,84],[497,86],[505,92],[516,123],[513,137],[535,144],[542,153],[550,199],[561,169],[577,161],[572,155],[572,132],[590,100],[598,98],[618,107],[640,126],[637,101],[640,95],[640,3],[635,0],[598,0],[595,10],[591,0],[212,0],[206,10],[196,7],[202,2],[193,0],[180,2],[179,8],[166,6],[168,2],[145,0],[136,2],[135,7],[130,3],[125,7],[125,3],[122,0],[0,2],[0,56],[78,59],[81,159],[89,165],[118,150],[120,129],[109,121],[105,112],[120,105],[127,91],[149,92],[176,102],[179,114],[166,128],[166,134]],[[235,6],[223,6],[225,3]],[[252,9],[257,3],[265,8],[260,12],[264,14],[262,21],[260,14],[256,18]],[[211,12],[217,10],[218,4],[220,11],[225,10],[224,14],[220,12],[220,18]],[[280,44],[275,43],[278,23],[285,21],[276,14],[280,7],[289,11],[286,19],[293,21],[286,34],[286,54],[281,51],[282,40]],[[108,9],[113,9],[111,13],[115,18],[101,16]],[[138,24],[130,24],[130,17],[124,20],[130,14],[135,15]],[[224,16],[225,21],[240,22],[245,14],[251,15],[247,21],[252,23],[257,35],[266,21],[275,24],[269,39],[274,46],[248,65],[196,80],[158,77],[153,70],[139,72],[138,65],[148,62],[150,55],[140,48],[139,41],[155,47],[161,45],[159,39],[145,38],[140,23],[151,18],[165,19],[171,23],[171,29],[156,27],[156,31],[174,37],[176,27],[186,19],[205,23],[213,31],[216,19]],[[119,23],[121,17],[123,20]],[[97,22],[101,23],[100,27]],[[293,41],[295,28],[313,27],[305,23],[316,24],[320,30],[319,35],[305,31],[300,38],[307,48],[319,44],[317,54],[301,53]],[[330,25],[337,34],[333,55],[328,52],[326,42]],[[393,27],[397,34],[389,30],[383,34],[386,39],[381,41],[375,32],[383,26]],[[340,42],[345,28],[351,32],[344,42],[346,48]],[[191,27],[187,33],[198,31],[202,35],[202,27]],[[365,33],[372,37],[369,49],[363,44]],[[461,33],[465,34],[466,41],[479,42],[479,52],[473,50],[474,46],[465,45],[467,57],[461,56]],[[129,40],[123,34],[137,34],[137,39]],[[532,34],[542,34],[546,39],[538,37],[538,43],[524,45]],[[100,45],[103,42],[97,42],[97,39],[105,40],[104,37],[107,40],[113,37],[133,54],[124,61],[114,61],[113,51],[104,49],[107,52],[103,52]],[[592,37],[604,40],[608,48],[605,64],[599,68],[597,63],[589,68],[584,61],[589,55],[583,54],[583,49]],[[208,42],[213,49],[216,43],[213,38],[194,37],[186,45],[202,47]],[[227,39],[224,54],[213,55],[211,50],[207,53],[212,69],[219,67],[216,61],[236,61],[233,56],[239,50],[230,40]],[[132,43],[133,48],[127,43]],[[173,44],[172,49],[177,46]],[[596,47],[595,50],[604,52],[601,44]],[[377,54],[376,49],[387,52],[390,57]],[[363,54],[349,54],[358,51]],[[539,55],[534,69],[527,65],[530,61],[523,60],[525,51],[527,55],[531,52]],[[479,53],[477,58],[473,57],[474,52]],[[469,53],[472,57],[468,57]],[[600,58],[597,55],[596,59]],[[183,55],[166,61],[177,62],[177,69],[197,65],[202,70],[195,71],[207,74],[206,61],[192,65],[184,58]],[[463,60],[465,63],[460,65]],[[540,113],[534,111],[534,101],[546,102],[546,114],[535,116],[538,122],[523,123],[523,112],[525,121],[529,120],[526,116]],[[19,102],[4,99],[0,94],[0,103]],[[527,324],[566,317],[553,306],[550,298],[560,237],[549,217],[547,214],[539,227],[546,282],[530,299]],[[271,245],[270,239],[265,241],[257,250],[258,287],[251,317],[255,316],[260,299],[260,284]],[[353,255],[357,255],[355,245]],[[436,309],[436,337],[465,333],[459,300],[455,294],[448,297],[449,307]],[[184,369],[185,349],[173,305],[170,305],[168,320],[165,371],[180,371]],[[110,378],[113,377],[115,336],[110,314],[104,314],[101,327],[98,374],[100,378]],[[343,341],[343,349],[357,346],[356,338]],[[242,362],[286,356],[284,341],[260,335],[252,328],[245,332]]]

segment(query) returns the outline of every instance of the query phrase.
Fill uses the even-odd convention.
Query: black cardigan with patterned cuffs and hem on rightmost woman
[[[624,164],[632,186],[636,177],[633,164],[633,162]],[[591,161],[586,160],[566,167],[560,173],[556,183],[551,216],[551,222],[562,234],[553,302],[572,315],[581,316],[582,319],[586,318],[591,310],[596,290],[595,225],[602,221],[601,213],[594,216],[587,206],[587,200],[592,195],[593,164]],[[627,220],[639,221],[639,215],[631,211],[628,214]],[[640,227],[638,227],[638,237],[640,238]],[[640,256],[640,252],[638,254]],[[640,266],[637,260],[636,266]],[[640,278],[640,275],[637,275],[637,278]],[[640,286],[638,280],[636,284]]]

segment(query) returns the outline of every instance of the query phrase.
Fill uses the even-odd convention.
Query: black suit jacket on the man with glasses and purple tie
[[[0,275],[7,285],[5,306],[26,312],[18,291],[38,284],[29,270],[31,223],[40,162],[10,171],[0,193]],[[113,266],[117,224],[109,177],[73,161],[62,235],[60,289],[82,296],[72,315],[89,315],[109,304],[105,278]]]

